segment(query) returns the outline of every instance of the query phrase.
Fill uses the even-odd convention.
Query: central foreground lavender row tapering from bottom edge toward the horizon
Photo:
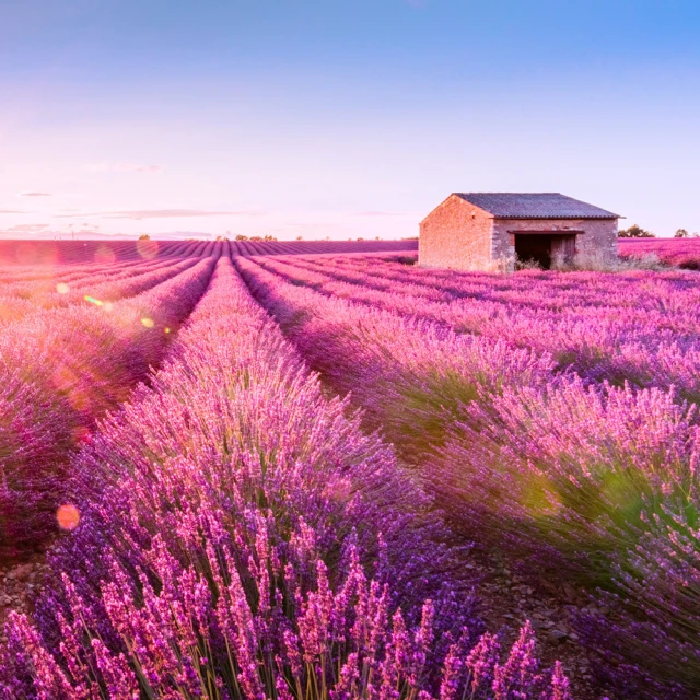
[[[37,626],[11,617],[5,693],[571,697],[529,627],[505,657],[479,634],[424,497],[229,260],[173,354],[74,459],[81,522]]]

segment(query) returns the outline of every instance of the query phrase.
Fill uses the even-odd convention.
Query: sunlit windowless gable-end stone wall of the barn
[[[453,270],[492,269],[493,218],[451,195],[420,223],[418,264]]]

